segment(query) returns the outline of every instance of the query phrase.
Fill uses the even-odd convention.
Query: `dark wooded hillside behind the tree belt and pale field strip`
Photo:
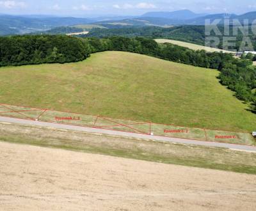
[[[244,46],[241,48],[241,43],[243,41],[244,35],[238,30],[237,35],[233,35],[233,26],[230,26],[230,35],[224,36],[224,26],[218,26],[221,35],[216,35],[214,31],[211,31],[211,36],[214,36],[220,40],[218,46],[212,45],[209,43],[210,47],[218,47],[223,49],[223,37],[233,37],[236,40],[231,41],[236,46],[233,49],[234,51],[252,51],[250,47]],[[236,31],[236,29],[235,29]],[[125,36],[125,37],[136,37],[143,36],[147,38],[166,38],[171,40],[180,40],[183,42],[195,43],[198,45],[205,45],[206,36],[205,36],[205,26],[175,26],[175,27],[157,27],[157,26],[148,26],[148,27],[124,27],[120,29],[93,29],[88,33],[88,35],[83,35],[83,37],[96,37],[104,38],[109,36]],[[248,38],[250,38],[253,49],[256,49],[256,35],[252,31],[252,27],[249,27]],[[227,50],[227,49],[226,49]]]

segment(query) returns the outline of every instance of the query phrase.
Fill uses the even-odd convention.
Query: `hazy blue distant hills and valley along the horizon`
[[[248,19],[249,24],[256,20],[256,12],[248,12],[243,15],[236,14],[197,14],[190,10],[179,10],[174,12],[148,12],[141,16],[116,16],[116,17],[96,17],[96,18],[76,18],[76,17],[54,17],[47,15],[0,15],[0,36],[17,35],[47,31],[54,27],[74,26],[83,24],[93,24],[110,29],[120,27],[143,27],[161,26],[172,27],[180,25],[205,25],[205,20],[212,23],[219,20],[218,24],[223,24],[225,19],[237,19],[243,24],[244,19]]]

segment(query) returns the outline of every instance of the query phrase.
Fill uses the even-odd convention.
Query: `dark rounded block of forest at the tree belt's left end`
[[[81,39],[36,35],[0,37],[0,66],[81,61],[90,55]]]

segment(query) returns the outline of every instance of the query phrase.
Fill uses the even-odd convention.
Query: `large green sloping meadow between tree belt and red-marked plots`
[[[128,52],[0,68],[0,103],[186,127],[255,130],[256,114],[219,72]]]

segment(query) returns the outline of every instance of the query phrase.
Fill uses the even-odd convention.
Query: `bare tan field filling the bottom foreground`
[[[1,210],[256,207],[255,175],[2,142],[0,169]]]

